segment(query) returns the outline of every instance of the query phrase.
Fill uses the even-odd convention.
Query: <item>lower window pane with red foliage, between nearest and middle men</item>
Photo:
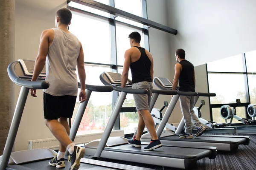
[[[111,71],[110,67],[95,65],[85,65],[85,70],[87,73],[86,84],[89,85],[103,85],[99,79],[99,75],[103,71]],[[78,94],[79,92],[80,91],[78,91]],[[73,118],[76,116],[78,107],[79,97],[77,97],[76,99],[76,106],[74,109]],[[111,112],[112,94],[92,92],[82,122],[79,126],[78,134],[96,133],[104,131],[106,122],[108,122],[108,119],[111,116]],[[73,122],[73,119],[71,120],[71,122]]]

